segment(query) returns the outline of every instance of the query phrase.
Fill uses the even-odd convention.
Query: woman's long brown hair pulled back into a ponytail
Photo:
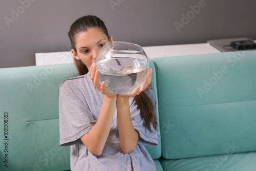
[[[78,18],[70,27],[70,31],[68,33],[71,46],[76,50],[76,42],[75,38],[76,35],[82,32],[86,32],[89,28],[98,28],[104,33],[110,40],[108,29],[106,29],[106,26],[104,22],[98,18],[97,16],[87,15]],[[74,58],[75,66],[79,72],[79,75],[84,75],[88,72],[88,68],[81,60],[77,60]],[[149,97],[150,92],[148,92],[148,89],[141,92],[139,95],[134,97],[134,100],[136,104],[138,105],[138,108],[140,110],[141,116],[144,119],[145,126],[148,130],[153,132],[151,130],[151,123],[153,124],[154,129],[157,129],[157,121],[156,121],[156,114],[155,114],[155,105],[153,104],[152,99]]]

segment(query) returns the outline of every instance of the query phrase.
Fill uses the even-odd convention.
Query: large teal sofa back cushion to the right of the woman
[[[164,158],[256,151],[256,51],[153,60]]]

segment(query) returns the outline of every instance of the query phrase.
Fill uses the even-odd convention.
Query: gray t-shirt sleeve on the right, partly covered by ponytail
[[[150,84],[151,85],[151,84]],[[154,100],[154,91],[151,86],[148,86],[148,96],[150,96]],[[140,114],[140,110],[138,110],[138,106],[134,100],[134,98],[130,98],[131,100],[131,106],[130,106],[130,112],[131,112],[131,118],[134,125],[134,129],[139,134],[139,140],[138,144],[143,144],[147,146],[157,145],[158,144],[158,137],[157,137],[157,131],[153,128],[153,125],[151,124],[151,130],[153,132],[150,132],[145,126],[144,120]]]

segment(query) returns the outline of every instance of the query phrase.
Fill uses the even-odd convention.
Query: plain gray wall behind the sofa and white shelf
[[[70,50],[67,36],[70,25],[89,14],[105,22],[114,40],[141,46],[194,44],[241,36],[256,39],[253,0],[1,0],[0,3],[0,68],[33,66],[36,52]]]

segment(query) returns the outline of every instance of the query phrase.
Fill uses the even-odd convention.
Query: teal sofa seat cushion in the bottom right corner
[[[177,160],[159,159],[164,170],[168,171],[233,171],[255,170],[256,152],[222,154]]]

